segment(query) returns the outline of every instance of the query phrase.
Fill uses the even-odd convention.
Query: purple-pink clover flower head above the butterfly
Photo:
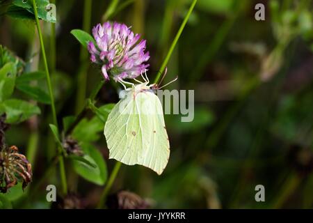
[[[102,66],[104,79],[109,79],[109,75],[115,81],[133,79],[149,66],[145,64],[150,58],[149,52],[145,53],[146,40],[138,43],[141,36],[134,35],[125,24],[97,24],[93,27],[93,37],[97,45],[88,43],[90,60]]]

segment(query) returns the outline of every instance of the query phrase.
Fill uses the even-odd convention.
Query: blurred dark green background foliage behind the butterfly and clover
[[[148,76],[154,79],[190,0],[56,0],[56,69],[52,71],[59,122],[77,113],[79,72],[86,67],[87,95],[101,72],[72,29],[88,33],[106,20],[123,22],[147,39]],[[264,3],[265,21],[255,20],[255,5]],[[168,89],[195,91],[195,118],[182,123],[166,115],[171,154],[161,176],[141,166],[122,165],[111,193],[128,190],[153,208],[313,208],[313,1],[198,0],[168,63]],[[86,4],[86,3],[85,3]],[[107,10],[111,7],[111,10]],[[89,21],[90,20],[90,21]],[[49,66],[51,24],[42,22]],[[0,44],[26,61],[38,63],[40,46],[34,23],[3,15]],[[85,56],[81,56],[86,54]],[[44,70],[39,63],[39,69]],[[18,94],[18,93],[17,93]],[[20,95],[23,97],[23,95]],[[118,102],[112,84],[99,93],[99,105]],[[49,106],[34,118],[39,131],[33,184],[47,167]],[[32,120],[8,130],[8,144],[25,151]],[[36,129],[36,128],[35,128]],[[107,160],[104,136],[93,144]],[[67,164],[67,174],[72,168]],[[48,178],[54,180],[53,178]],[[69,178],[72,192],[86,208],[94,206],[102,187]],[[46,183],[46,185],[47,185]],[[255,186],[264,185],[266,201],[255,201]],[[16,207],[49,208],[45,184],[36,199],[19,199]],[[30,187],[30,191],[32,185]]]

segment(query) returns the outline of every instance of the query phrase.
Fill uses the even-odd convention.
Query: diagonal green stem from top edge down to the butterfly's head
[[[197,0],[193,0],[193,3],[191,3],[191,6],[188,10],[188,13],[186,15],[186,17],[184,18],[184,21],[182,22],[181,26],[179,27],[179,30],[174,38],[174,40],[172,41],[172,45],[170,45],[170,49],[168,50],[168,54],[166,55],[166,59],[164,59],[161,68],[157,74],[157,77],[154,79],[154,83],[159,82],[159,79],[161,77],[161,74],[164,72],[166,65],[168,64],[168,61],[170,60],[170,56],[172,55],[173,50],[175,49],[175,46],[179,40],[179,37],[182,34],[182,31],[184,30],[184,27],[186,26],[186,23],[188,22],[188,19],[193,11],[193,8],[195,7],[195,3],[197,3]]]

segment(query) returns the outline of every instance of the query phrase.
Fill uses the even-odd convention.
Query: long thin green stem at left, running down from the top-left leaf
[[[33,11],[35,14],[35,21],[36,21],[36,25],[37,25],[39,40],[40,40],[42,59],[43,59],[44,64],[45,64],[45,73],[46,73],[47,85],[48,85],[49,95],[50,95],[50,100],[51,100],[51,110],[52,110],[53,122],[54,122],[54,125],[56,125],[56,127],[58,128],[58,121],[56,119],[56,107],[54,105],[54,95],[53,95],[53,91],[52,91],[51,79],[50,79],[47,57],[46,57],[46,52],[45,52],[45,45],[44,45],[43,38],[42,38],[42,33],[41,33],[39,19],[38,19],[38,11],[37,11],[37,6],[36,6],[35,0],[33,0]],[[61,148],[58,147],[58,150],[61,151]],[[63,193],[67,194],[67,183],[66,183],[66,176],[65,176],[64,160],[63,160],[62,156],[60,156],[59,159],[60,159],[61,185],[62,185]]]

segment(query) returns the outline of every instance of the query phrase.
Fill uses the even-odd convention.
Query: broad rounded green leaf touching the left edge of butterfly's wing
[[[83,118],[74,128],[72,137],[78,141],[91,142],[99,139],[99,132],[104,130],[104,125],[99,118],[94,117],[91,120]]]

